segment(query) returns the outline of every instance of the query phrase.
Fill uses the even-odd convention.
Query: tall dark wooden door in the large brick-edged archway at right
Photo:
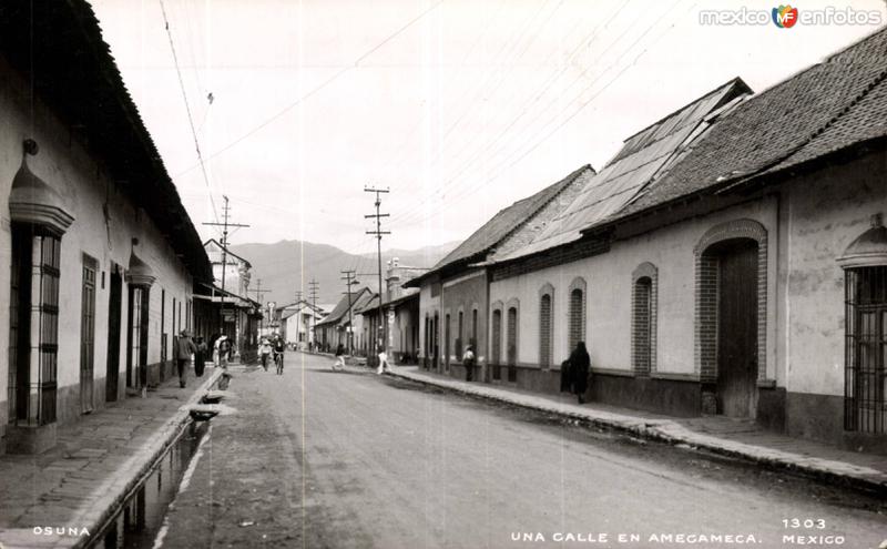
[[[737,241],[718,254],[718,413],[754,417],[757,380],[757,243]]]

